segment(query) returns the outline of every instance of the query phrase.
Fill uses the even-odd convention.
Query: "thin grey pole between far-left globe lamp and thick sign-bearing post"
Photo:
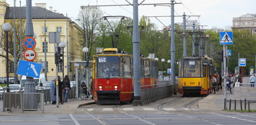
[[[13,19],[14,19],[14,84],[18,83],[17,80],[17,47],[16,47],[16,36],[17,36],[17,31],[16,31],[16,17],[15,17],[15,9],[16,9],[16,0],[14,0],[14,12],[13,12]]]

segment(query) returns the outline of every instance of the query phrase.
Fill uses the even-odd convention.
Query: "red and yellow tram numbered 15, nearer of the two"
[[[158,61],[140,58],[141,85],[158,82]],[[93,99],[97,104],[120,104],[133,100],[133,56],[105,48],[93,56]],[[147,88],[147,87],[143,87]],[[143,89],[142,88],[142,89]]]

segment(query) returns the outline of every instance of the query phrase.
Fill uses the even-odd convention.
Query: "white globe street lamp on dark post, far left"
[[[9,92],[9,46],[8,46],[8,32],[12,30],[12,26],[8,23],[2,25],[2,30],[6,33],[6,81],[7,92]]]

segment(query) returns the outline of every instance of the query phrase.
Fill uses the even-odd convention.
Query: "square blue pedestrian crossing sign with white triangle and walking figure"
[[[233,32],[220,32],[219,33],[220,45],[232,45],[233,44]]]

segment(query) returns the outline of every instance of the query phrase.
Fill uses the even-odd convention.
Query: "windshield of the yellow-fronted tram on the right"
[[[202,77],[200,60],[184,60],[183,77]]]

